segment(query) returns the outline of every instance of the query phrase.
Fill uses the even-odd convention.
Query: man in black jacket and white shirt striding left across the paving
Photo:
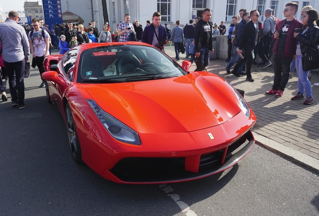
[[[243,33],[240,37],[239,41],[239,50],[238,54],[243,53],[244,49],[244,58],[240,59],[238,63],[235,65],[234,69],[231,71],[235,76],[240,76],[238,74],[239,66],[247,60],[246,63],[246,80],[253,82],[254,79],[251,76],[251,65],[253,62],[253,49],[258,41],[258,24],[257,21],[259,19],[259,12],[257,9],[250,11],[251,20],[247,22],[243,27]]]

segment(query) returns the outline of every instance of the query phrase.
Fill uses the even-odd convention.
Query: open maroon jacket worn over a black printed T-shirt
[[[286,22],[286,19],[281,20],[277,24],[277,26],[275,27],[275,31],[277,29],[281,30],[285,22]],[[302,26],[303,26],[303,23],[296,18],[293,18],[293,20],[290,22],[288,32],[287,32],[286,45],[285,45],[285,49],[283,51],[284,57],[292,57],[293,56],[293,52],[294,52],[294,48],[295,48],[295,44],[296,44],[296,38],[293,37],[293,32],[294,32],[294,29],[296,27],[302,28]],[[272,38],[274,40],[276,40],[275,45],[273,47],[273,53],[276,54],[280,38],[275,39],[274,35],[272,35]]]

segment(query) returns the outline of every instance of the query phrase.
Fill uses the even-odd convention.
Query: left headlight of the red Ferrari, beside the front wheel
[[[105,112],[94,100],[87,99],[86,101],[111,136],[121,142],[140,145],[137,132]]]

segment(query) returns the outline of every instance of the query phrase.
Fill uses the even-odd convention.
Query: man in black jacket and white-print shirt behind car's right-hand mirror
[[[201,18],[195,25],[194,43],[196,50],[196,57],[200,57],[203,68],[196,68],[195,71],[204,69],[209,64],[209,54],[214,52],[213,48],[213,26],[209,21],[212,17],[212,10],[204,9],[203,18]]]

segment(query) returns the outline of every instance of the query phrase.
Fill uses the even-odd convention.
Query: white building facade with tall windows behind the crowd
[[[264,10],[273,8],[275,16],[283,19],[283,8],[290,0],[106,0],[109,24],[115,30],[116,24],[124,20],[124,15],[129,13],[131,22],[139,20],[144,27],[146,20],[151,20],[153,12],[162,14],[161,23],[168,23],[169,28],[175,27],[176,20],[181,24],[189,23],[190,19],[201,16],[205,8],[212,9],[212,22],[224,21],[228,28],[233,15],[239,13],[239,9],[245,7],[248,12],[258,9],[261,14],[259,20],[264,21]],[[295,1],[299,4],[296,18],[301,19],[301,8],[311,5],[319,9],[319,0]],[[84,26],[87,26],[92,19],[96,21],[99,29],[103,27],[102,0],[63,0],[61,1],[62,11],[69,10],[80,15],[84,19]]]

